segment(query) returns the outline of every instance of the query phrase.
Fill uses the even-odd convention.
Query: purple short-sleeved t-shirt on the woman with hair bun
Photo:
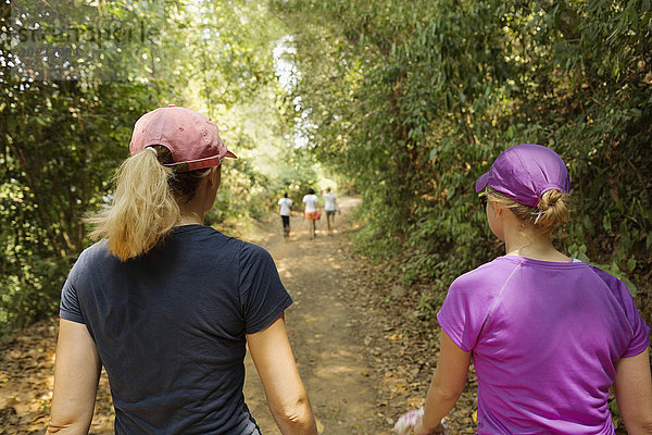
[[[584,262],[500,257],[455,279],[437,319],[473,352],[478,434],[613,434],[614,364],[650,340],[625,284]]]

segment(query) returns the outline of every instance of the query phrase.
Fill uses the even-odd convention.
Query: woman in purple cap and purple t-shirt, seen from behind
[[[479,435],[614,434],[612,386],[628,433],[652,434],[650,327],[622,281],[550,239],[569,219],[562,159],[539,145],[512,147],[475,189],[505,256],[450,286],[414,433],[442,432],[473,358]]]

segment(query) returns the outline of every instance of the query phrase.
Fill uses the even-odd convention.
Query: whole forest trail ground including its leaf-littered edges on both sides
[[[431,374],[430,362],[414,356],[423,355],[432,337],[406,333],[414,318],[403,313],[413,307],[415,294],[388,285],[381,265],[351,253],[348,233],[354,224],[348,216],[358,203],[342,200],[334,234],[327,234],[323,217],[314,240],[299,214],[292,216],[289,240],[281,236],[278,216],[235,229],[272,253],[294,299],[287,310],[287,330],[323,435],[390,435],[400,413],[421,406]],[[392,303],[385,303],[387,294]],[[43,433],[57,332],[58,319],[52,318],[0,343],[0,434]],[[249,357],[246,363],[251,412],[264,435],[279,434]],[[89,433],[113,434],[105,373]]]

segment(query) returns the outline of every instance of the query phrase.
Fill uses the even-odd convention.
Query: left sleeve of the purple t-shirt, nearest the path
[[[475,347],[494,301],[492,286],[478,271],[468,272],[451,284],[437,313],[437,322],[463,351]]]

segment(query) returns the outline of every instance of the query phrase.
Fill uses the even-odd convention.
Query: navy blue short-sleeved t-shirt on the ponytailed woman
[[[256,433],[242,385],[246,334],[292,299],[263,248],[203,225],[120,261],[86,249],[60,315],[84,323],[106,369],[116,434]]]

